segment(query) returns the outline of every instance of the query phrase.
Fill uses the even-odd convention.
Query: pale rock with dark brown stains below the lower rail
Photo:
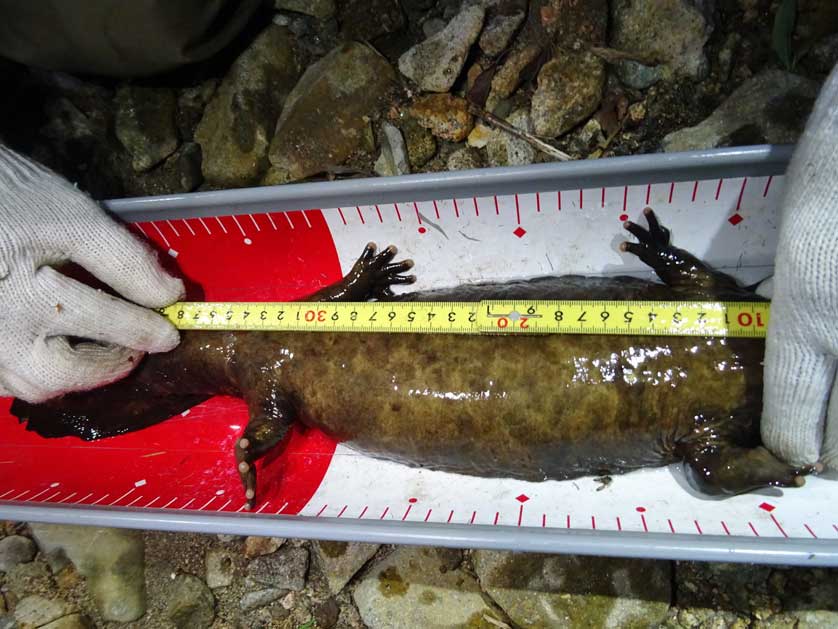
[[[490,627],[484,617],[496,624],[477,581],[452,567],[451,555],[457,551],[396,548],[355,588],[361,618],[371,629]]]

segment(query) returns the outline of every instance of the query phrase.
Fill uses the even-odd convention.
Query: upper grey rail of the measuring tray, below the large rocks
[[[745,146],[106,201],[128,221],[305,210],[785,172],[792,146]]]

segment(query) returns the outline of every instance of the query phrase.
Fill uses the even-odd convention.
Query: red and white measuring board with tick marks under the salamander
[[[752,147],[125,200],[111,208],[187,278],[188,300],[294,300],[338,280],[370,241],[395,244],[398,259],[416,262],[413,289],[546,274],[651,278],[617,246],[627,238],[622,222],[642,223],[646,206],[677,246],[750,284],[772,273],[788,157],[787,148]],[[0,406],[5,518],[838,564],[838,485],[823,478],[725,500],[693,492],[679,465],[614,476],[606,487],[593,478],[483,479],[372,459],[316,430],[295,429],[262,465],[257,505],[245,513],[233,458],[247,421],[240,400],[215,398],[92,443],[26,432],[9,403]]]

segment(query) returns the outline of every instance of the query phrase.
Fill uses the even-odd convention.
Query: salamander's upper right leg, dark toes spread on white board
[[[644,209],[643,216],[648,229],[632,221],[624,223],[638,242],[623,242],[620,249],[648,264],[667,286],[708,298],[750,295],[729,275],[713,270],[688,251],[673,247],[669,230],[658,222],[652,208]]]

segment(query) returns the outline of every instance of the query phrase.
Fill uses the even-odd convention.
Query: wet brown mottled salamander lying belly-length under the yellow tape
[[[341,282],[309,301],[480,299],[758,300],[751,291],[626,223],[623,243],[664,282],[546,277],[394,296],[412,262],[369,245]],[[532,481],[687,462],[710,493],[798,486],[759,442],[763,342],[751,339],[184,332],[125,380],[13,412],[46,437],[97,439],[163,421],[215,394],[242,397],[236,444],[252,504],[254,463],[294,421],[371,455],[431,469]]]

